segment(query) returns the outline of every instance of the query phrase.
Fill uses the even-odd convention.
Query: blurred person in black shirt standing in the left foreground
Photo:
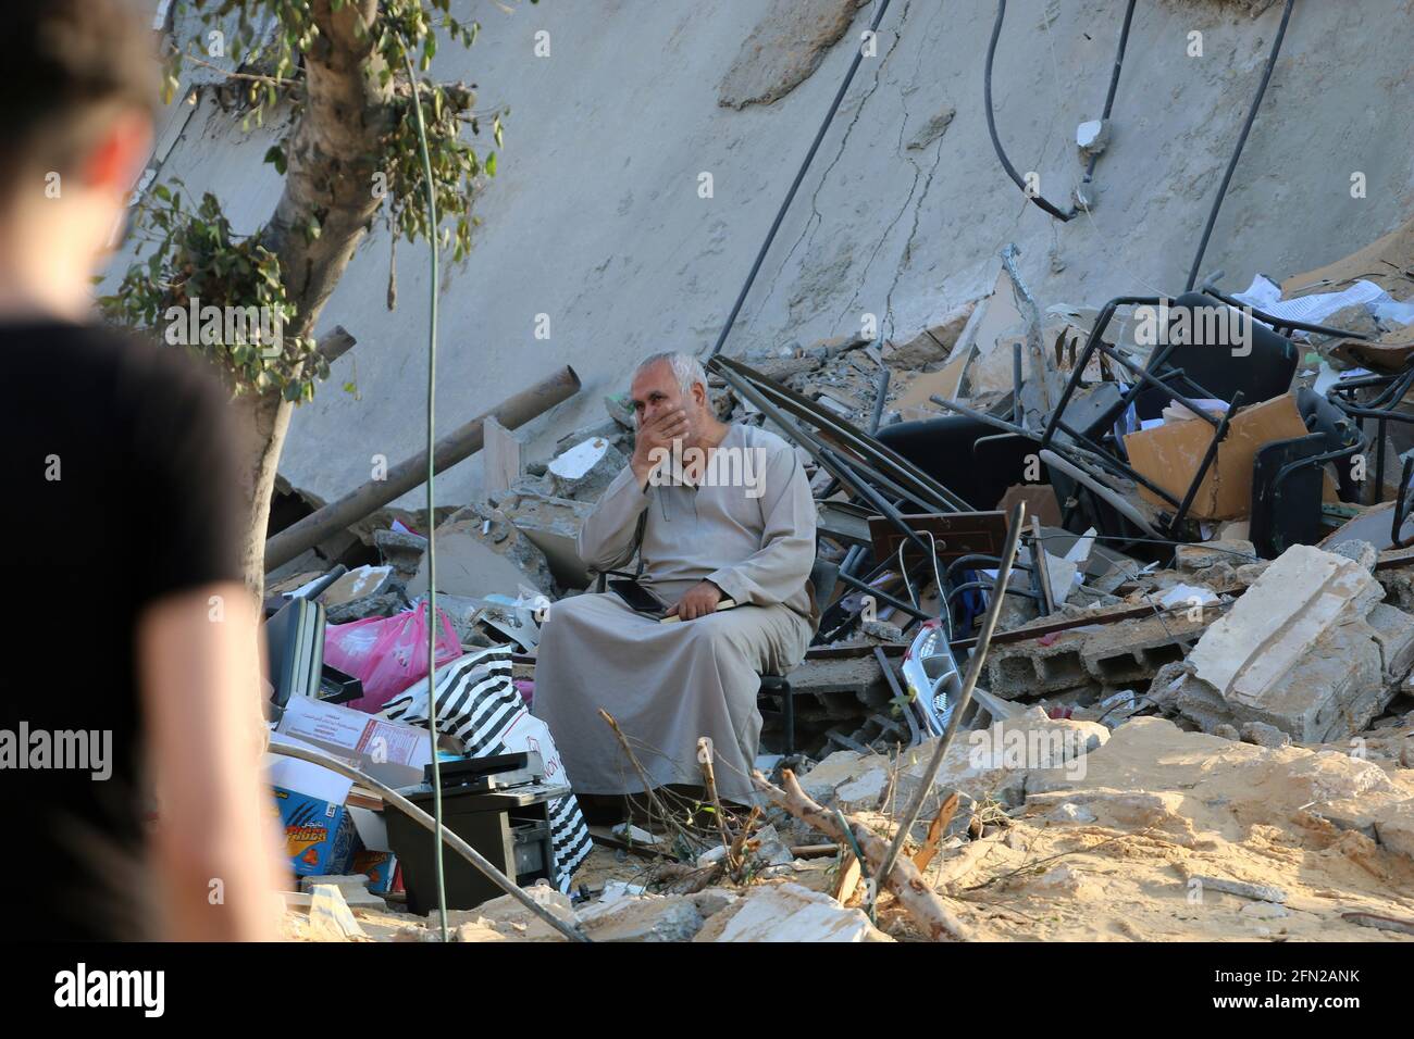
[[[153,34],[127,0],[4,16],[0,826],[24,895],[3,936],[273,939],[228,399],[199,362],[90,312],[151,147]]]

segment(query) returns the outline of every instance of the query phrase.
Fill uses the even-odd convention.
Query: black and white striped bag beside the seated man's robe
[[[427,679],[389,700],[382,717],[427,728]],[[568,785],[549,727],[510,684],[509,649],[468,653],[437,669],[437,731],[461,739],[468,758],[536,751],[546,779]],[[574,794],[550,802],[550,837],[556,886],[568,892],[570,878],[590,854],[590,827]]]

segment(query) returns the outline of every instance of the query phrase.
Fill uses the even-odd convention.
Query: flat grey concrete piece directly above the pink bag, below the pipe
[[[513,594],[522,584],[556,595],[550,565],[499,509],[468,506],[437,527],[437,591],[479,598]],[[427,560],[407,582],[407,597],[427,592]]]

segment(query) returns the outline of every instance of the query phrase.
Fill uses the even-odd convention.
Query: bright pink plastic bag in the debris
[[[451,621],[437,611],[437,666],[461,656]],[[369,616],[324,629],[324,659],[363,683],[363,697],[344,704],[376,714],[414,681],[427,677],[427,609],[416,606],[395,616]]]

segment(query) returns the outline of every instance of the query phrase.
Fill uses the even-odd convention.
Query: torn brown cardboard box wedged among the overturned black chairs
[[[1215,428],[1200,418],[1167,421],[1152,430],[1130,433],[1124,437],[1124,448],[1137,472],[1182,502],[1203,464],[1213,433]],[[1290,393],[1244,407],[1229,424],[1227,437],[1217,447],[1193,496],[1189,516],[1200,520],[1247,516],[1251,512],[1251,464],[1257,448],[1274,440],[1305,435],[1307,425]],[[1148,488],[1141,486],[1140,493],[1159,507],[1174,507]]]

